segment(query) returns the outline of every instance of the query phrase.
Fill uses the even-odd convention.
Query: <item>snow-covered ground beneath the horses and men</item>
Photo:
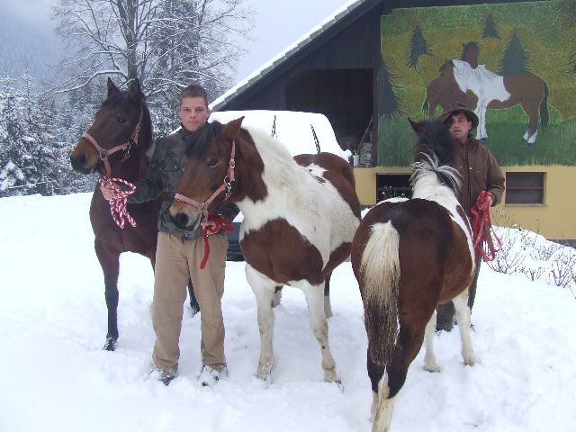
[[[106,332],[103,276],[88,221],[90,195],[0,199],[0,430],[369,431],[363,310],[350,263],[332,277],[332,353],[346,389],[323,383],[303,295],[275,311],[273,383],[255,377],[256,302],[244,263],[229,262],[223,300],[229,379],[195,380],[198,317],[186,313],[181,375],[147,381],[154,334],[152,270],[121,257],[117,350]],[[478,359],[465,367],[458,332],[436,335],[440,374],[410,366],[392,430],[531,432],[576,428],[576,299],[566,288],[482,266],[473,311]],[[189,311],[189,310],[187,310]]]

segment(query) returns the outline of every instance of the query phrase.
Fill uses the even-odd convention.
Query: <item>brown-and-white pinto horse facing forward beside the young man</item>
[[[352,167],[331,153],[292,157],[266,132],[241,128],[242,119],[207,126],[204,142],[187,154],[176,194],[183,202],[175,201],[170,213],[178,225],[190,229],[202,220],[198,208],[214,211],[229,190],[229,200],[244,213],[240,247],[257,298],[257,376],[271,378],[275,286],[285,284],[306,296],[324,380],[338,381],[323,290],[334,268],[348,257],[360,221]]]

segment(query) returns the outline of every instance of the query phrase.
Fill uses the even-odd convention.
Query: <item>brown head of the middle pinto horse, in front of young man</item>
[[[176,188],[170,216],[180,229],[196,229],[221,202],[234,201],[236,154],[244,117],[222,125],[207,123],[193,133],[186,149],[186,166]]]

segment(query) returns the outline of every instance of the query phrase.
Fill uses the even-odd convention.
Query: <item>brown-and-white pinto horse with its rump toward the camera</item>
[[[455,198],[455,141],[439,120],[411,122],[419,136],[410,200],[380,202],[352,243],[352,268],[365,306],[373,432],[390,429],[396,395],[426,339],[424,368],[438,372],[432,341],[436,306],[454,301],[465,365],[474,364],[468,287],[474,275],[471,228]]]

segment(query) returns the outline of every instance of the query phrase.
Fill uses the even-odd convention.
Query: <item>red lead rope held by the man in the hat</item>
[[[482,191],[472,208],[472,233],[476,257],[482,254],[484,262],[492,261],[502,248],[500,238],[492,229],[490,220],[490,193]],[[498,247],[494,247],[494,240]]]

